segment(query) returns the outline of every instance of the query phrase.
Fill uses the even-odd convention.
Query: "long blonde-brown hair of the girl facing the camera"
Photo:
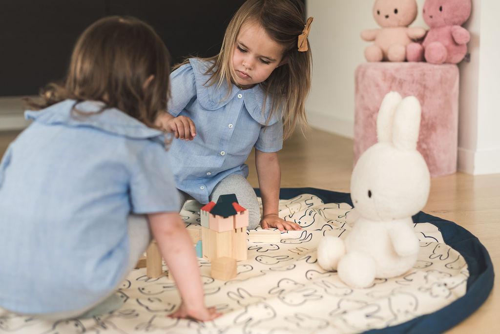
[[[312,56],[310,47],[307,51],[298,51],[297,39],[305,24],[304,7],[299,0],[247,0],[231,18],[217,55],[200,58],[212,62],[206,74],[210,74],[207,85],[219,87],[224,81],[229,90],[234,73],[231,70],[231,59],[236,38],[243,23],[254,21],[260,24],[266,33],[283,46],[283,59],[286,63],[278,66],[269,77],[260,83],[265,91],[265,98],[271,100],[271,113],[281,109],[283,119],[283,139],[288,138],[297,124],[304,129],[307,125],[305,114],[305,98],[310,89]],[[309,42],[307,41],[309,46]],[[174,68],[188,62],[176,65]],[[228,92],[229,94],[229,92]]]

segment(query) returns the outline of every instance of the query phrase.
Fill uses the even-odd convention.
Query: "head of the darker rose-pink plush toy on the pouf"
[[[470,16],[470,0],[425,0],[423,20],[431,28],[462,25]]]

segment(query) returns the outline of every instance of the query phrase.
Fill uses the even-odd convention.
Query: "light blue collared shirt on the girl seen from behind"
[[[0,306],[12,311],[97,301],[128,266],[130,212],[178,207],[163,133],[117,109],[79,115],[74,103],[26,111],[33,123],[0,164]]]

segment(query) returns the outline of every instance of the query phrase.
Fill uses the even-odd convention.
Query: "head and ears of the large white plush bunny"
[[[385,95],[377,115],[378,142],[361,154],[351,176],[352,202],[364,218],[406,218],[425,205],[430,176],[416,150],[420,112],[413,96]]]

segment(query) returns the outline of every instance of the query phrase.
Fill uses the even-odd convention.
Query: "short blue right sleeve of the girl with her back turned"
[[[170,171],[168,152],[162,145],[149,142],[134,167],[130,180],[133,213],[179,210],[179,197]]]

